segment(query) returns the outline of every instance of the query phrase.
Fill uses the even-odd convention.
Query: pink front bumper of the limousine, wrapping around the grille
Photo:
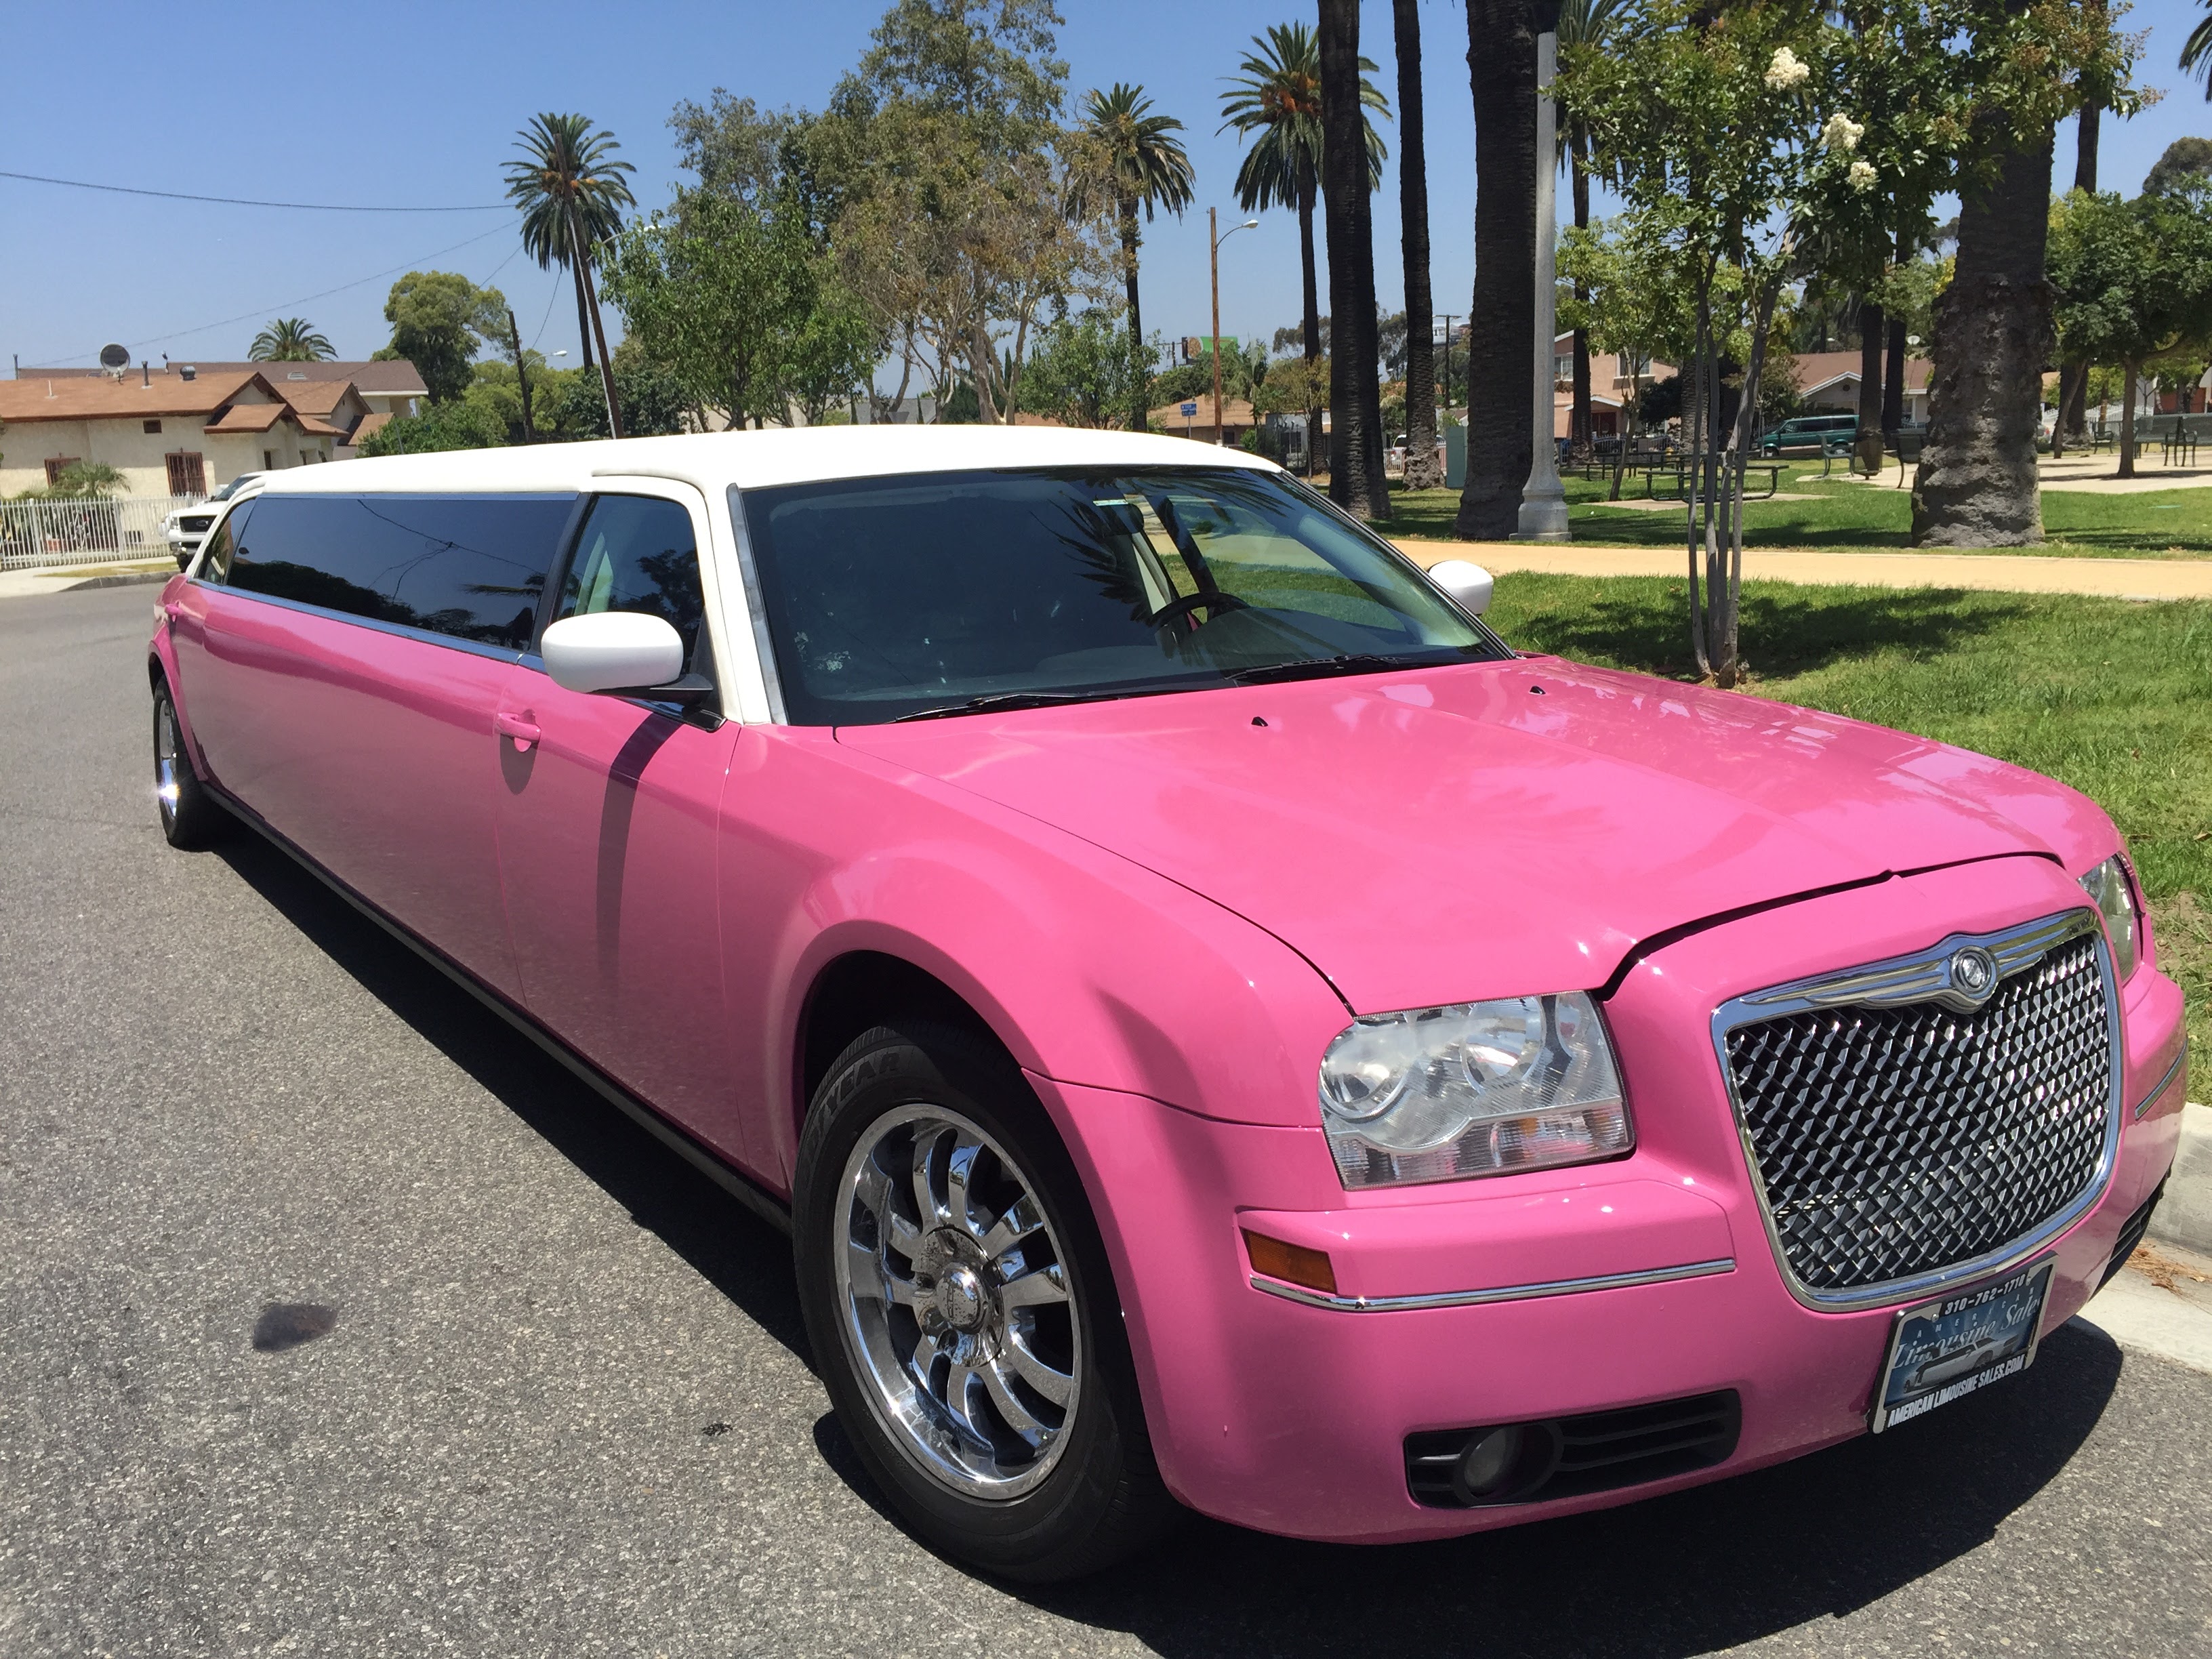
[[[2048,914],[2079,900],[2068,887],[2044,860],[1991,860],[1745,918],[1648,958],[1608,1002],[1639,1130],[1615,1164],[1347,1194],[1318,1126],[1223,1124],[1033,1079],[1099,1201],[1170,1489],[1263,1531],[1389,1542],[1630,1502],[1863,1433],[1893,1310],[1820,1312],[1792,1296],[1710,1013],[1759,984],[1924,945],[1931,916],[1947,918],[1942,933]],[[2104,1197],[2051,1245],[2046,1329],[2095,1292],[2174,1155],[2181,993],[2143,969],[2121,1002],[2119,1152]],[[1239,1225],[1327,1250],[1340,1301],[1256,1287]],[[1431,1509],[1407,1491],[1411,1433],[1721,1389],[1741,1398],[1741,1436],[1697,1473],[1500,1509]]]

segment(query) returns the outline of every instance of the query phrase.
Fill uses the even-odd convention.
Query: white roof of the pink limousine
[[[1279,471],[1243,449],[1144,431],[1073,427],[799,427],[706,431],[679,438],[449,449],[429,456],[334,460],[268,473],[261,495],[411,491],[586,491],[595,478],[681,478],[701,489],[768,489],[830,478],[880,478],[984,467],[1250,467]]]

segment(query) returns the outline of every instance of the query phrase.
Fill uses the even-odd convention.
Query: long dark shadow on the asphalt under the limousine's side
[[[790,1241],[624,1117],[274,843],[237,825],[217,856],[369,995],[591,1177],[754,1325],[807,1360]]]

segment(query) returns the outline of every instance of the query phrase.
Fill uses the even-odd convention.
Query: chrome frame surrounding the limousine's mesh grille
[[[1942,995],[1942,991],[1949,989],[1949,964],[1958,951],[1973,945],[1986,949],[1997,958],[2002,984],[2015,973],[2035,967],[2035,962],[2044,960],[2059,945],[2081,938],[2084,933],[2097,940],[2097,973],[2104,980],[2112,1086],[2104,1115],[2104,1152],[2099,1155],[2097,1172],[2090,1177],[2088,1186],[2081,1188],[2081,1197],[2035,1228],[2035,1232],[2013,1239],[2011,1243],[1969,1261],[1951,1263],[1949,1267],[1933,1267],[1924,1274],[1887,1279],[1878,1285],[1858,1285],[1854,1290],[1812,1290],[1805,1285],[1790,1267],[1790,1254],[1783,1250],[1781,1230],[1774,1225],[1774,1206],[1767,1201],[1767,1183],[1759,1172],[1759,1150],[1752,1146],[1752,1130],[1743,1121],[1743,1099],[1736,1095],[1736,1073],[1734,1066],[1728,1064],[1728,1033],[1741,1024],[1752,1024],[1754,1020],[1774,1020],[1787,1013],[1829,1009],[1845,1002],[1871,1002],[1876,1006],[1896,1006],[1898,1002],[1949,1004],[1951,998]],[[1931,978],[1931,967],[1940,971],[1940,980]],[[1920,984],[1924,989],[1918,993],[1905,993],[1902,987],[1907,984]],[[1869,987],[1871,995],[1840,995],[1845,987]],[[1712,1055],[1721,1066],[1721,1086],[1728,1091],[1728,1104],[1736,1115],[1736,1141],[1743,1146],[1743,1166],[1752,1179],[1752,1194],[1759,1199],[1759,1219],[1767,1228],[1767,1245],[1774,1252],[1774,1267],[1781,1272],[1783,1285],[1790,1294],[1805,1307],[1823,1314],[1927,1301],[1929,1296],[1966,1279],[1982,1279],[1984,1274],[2000,1274],[2017,1267],[2022,1261],[2044,1250],[2053,1239],[2066,1232],[2075,1221],[2095,1210],[2104,1199],[2106,1188],[2112,1183],[2112,1170],[2119,1166],[2119,1124],[2128,1093],[2128,1079],[2121,1073],[2121,1024],[2119,980],[2112,973],[2112,947],[2106,940],[2104,922],[2097,918],[2093,907],[2042,916],[2022,927],[2006,927],[1995,933],[1951,933],[1931,945],[1927,951],[1916,951],[1913,956],[1896,956],[1887,962],[1869,962],[1867,967],[1840,973],[1792,980],[1767,991],[1752,991],[1750,995],[1732,998],[1714,1009]]]

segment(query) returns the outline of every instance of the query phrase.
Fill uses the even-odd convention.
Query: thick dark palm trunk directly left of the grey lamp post
[[[1467,484],[1453,535],[1520,526],[1535,460],[1535,29],[1531,0],[1467,0],[1475,97],[1475,294],[1467,316]]]

